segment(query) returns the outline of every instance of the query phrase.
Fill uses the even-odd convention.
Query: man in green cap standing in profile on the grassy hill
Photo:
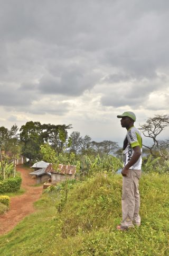
[[[122,222],[116,228],[124,231],[134,225],[140,226],[139,216],[139,179],[142,167],[142,137],[134,127],[136,116],[133,112],[124,112],[117,116],[121,118],[121,126],[127,129],[127,135],[123,145],[124,167],[121,171],[123,175],[123,195],[121,199]]]

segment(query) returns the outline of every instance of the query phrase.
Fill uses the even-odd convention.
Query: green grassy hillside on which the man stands
[[[142,226],[116,231],[121,219],[120,175],[97,174],[52,188],[36,213],[0,237],[0,255],[168,255],[168,175],[140,180]],[[58,209],[58,210],[57,210]]]

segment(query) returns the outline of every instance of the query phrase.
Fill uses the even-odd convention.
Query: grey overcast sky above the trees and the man
[[[121,146],[117,114],[168,114],[168,0],[0,3],[0,126],[71,123]]]

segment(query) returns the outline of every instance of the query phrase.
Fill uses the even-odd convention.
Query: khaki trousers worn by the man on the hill
[[[130,170],[127,176],[123,176],[123,195],[121,198],[122,222],[121,226],[133,226],[134,223],[140,223],[139,207],[139,179],[141,170]]]

